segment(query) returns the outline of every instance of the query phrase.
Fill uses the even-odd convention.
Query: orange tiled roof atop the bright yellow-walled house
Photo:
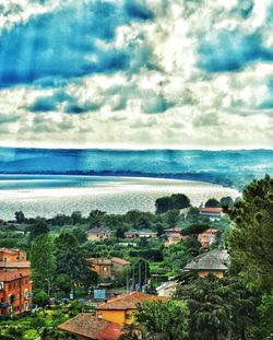
[[[106,303],[100,304],[97,306],[97,309],[135,309],[135,305],[139,302],[145,301],[145,300],[166,300],[166,297],[161,297],[156,295],[140,293],[140,292],[132,292],[129,294],[122,294],[117,297],[108,300]]]

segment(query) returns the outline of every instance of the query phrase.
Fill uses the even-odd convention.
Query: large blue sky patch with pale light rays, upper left
[[[96,42],[112,42],[116,28],[132,19],[149,19],[149,12],[133,2],[128,9],[128,4],[95,1],[0,32],[0,86],[43,84],[44,79],[54,84],[54,79],[127,70],[130,50],[105,51]]]

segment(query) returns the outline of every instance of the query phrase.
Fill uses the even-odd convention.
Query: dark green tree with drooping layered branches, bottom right
[[[219,340],[232,335],[246,339],[257,320],[258,298],[235,278],[183,278],[176,296],[188,302],[190,339]]]

